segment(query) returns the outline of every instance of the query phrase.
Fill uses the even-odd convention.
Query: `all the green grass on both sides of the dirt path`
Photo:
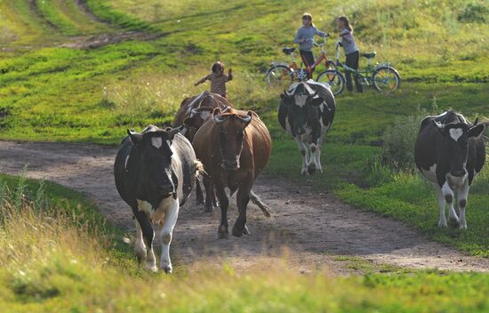
[[[0,1],[0,139],[117,144],[127,128],[169,124],[180,101],[205,88],[193,83],[213,61],[223,60],[235,69],[235,81],[228,84],[230,100],[239,108],[255,109],[272,133],[270,175],[313,181],[345,202],[404,221],[466,253],[489,257],[489,168],[469,194],[469,229],[438,229],[431,187],[409,162],[397,167],[381,157],[384,132],[403,133],[397,126],[404,124],[412,130],[422,114],[453,108],[470,119],[489,116],[488,1],[80,3],[85,5]],[[281,48],[292,44],[305,11],[330,33],[333,18],[348,14],[360,48],[378,52],[379,61],[393,62],[403,78],[401,90],[389,96],[368,91],[338,98],[323,153],[325,173],[308,178],[299,175],[298,148],[277,123],[281,90],[270,90],[263,82],[271,61],[287,60]],[[159,36],[96,49],[61,47],[126,32]],[[327,51],[333,55],[333,40]],[[409,136],[412,132],[405,132],[406,142],[412,140]],[[13,195],[11,204],[2,202],[3,212],[10,214],[3,215],[2,223],[12,227],[0,228],[0,301],[12,311],[215,311],[222,303],[228,311],[450,312],[489,306],[483,296],[489,281],[482,274],[395,269],[333,278],[327,272],[300,276],[282,267],[240,273],[226,264],[198,264],[177,269],[175,277],[150,276],[132,262],[123,235],[103,226],[93,205],[76,193],[46,184],[48,196],[41,197],[37,183],[28,182],[31,197],[49,198],[50,204],[44,205],[47,213],[39,213],[36,205],[19,213],[22,192],[15,190],[23,189],[16,187],[16,179],[2,176],[2,181]],[[36,229],[23,222],[32,219],[38,221]],[[41,235],[37,229],[43,229]],[[34,238],[43,244],[26,249]],[[82,246],[92,247],[92,253],[84,254]]]

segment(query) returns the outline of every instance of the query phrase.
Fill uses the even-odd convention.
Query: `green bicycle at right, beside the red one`
[[[378,92],[395,92],[401,84],[401,76],[396,68],[390,63],[380,63],[373,66],[371,60],[377,55],[376,52],[360,53],[367,60],[365,70],[356,70],[350,68],[340,61],[340,43],[338,40],[335,44],[336,49],[336,67],[335,69],[326,69],[323,73],[317,76],[317,82],[330,85],[333,94],[339,95],[345,89],[345,76],[338,68],[342,68],[345,72],[351,73],[353,76],[360,78],[360,82],[365,86],[372,86]]]

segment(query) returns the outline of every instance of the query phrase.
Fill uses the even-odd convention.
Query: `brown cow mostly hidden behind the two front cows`
[[[186,118],[190,118],[192,120],[192,127],[187,127],[182,134],[187,137],[190,142],[194,139],[196,131],[204,124],[204,121],[212,116],[212,110],[214,108],[220,108],[225,110],[229,106],[228,100],[226,98],[221,97],[217,93],[211,92],[202,92],[201,94],[191,97],[185,98],[181,101],[180,109],[178,110],[175,118],[173,120],[172,127],[180,127],[183,124],[183,121]],[[210,184],[207,180],[208,178],[205,174],[202,175],[202,179],[204,181],[204,186],[207,186],[209,190],[206,190],[206,194],[212,195],[212,197],[207,197],[204,203],[204,195],[202,193],[202,188],[200,187],[200,183],[196,181],[196,203],[199,205],[204,204],[205,212],[212,212],[214,206],[217,206],[217,200],[212,190],[212,184]]]

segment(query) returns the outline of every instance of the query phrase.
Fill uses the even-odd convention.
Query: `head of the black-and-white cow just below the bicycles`
[[[324,99],[317,92],[310,92],[306,84],[298,84],[293,92],[284,91],[280,95],[282,105],[287,109],[289,123],[293,136],[302,135],[306,132],[310,108],[320,106]]]

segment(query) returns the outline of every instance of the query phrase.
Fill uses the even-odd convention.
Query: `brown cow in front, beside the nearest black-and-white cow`
[[[185,124],[188,123],[191,120],[185,121]],[[252,191],[254,180],[269,161],[269,130],[253,111],[228,108],[223,113],[220,108],[215,108],[212,118],[208,118],[196,132],[192,144],[220,202],[219,237],[228,235],[229,200],[224,190],[226,187],[230,189],[231,195],[237,190],[236,205],[239,215],[232,234],[236,237],[249,234],[246,227],[246,206],[250,200],[261,208],[265,216],[270,216],[269,207]]]

